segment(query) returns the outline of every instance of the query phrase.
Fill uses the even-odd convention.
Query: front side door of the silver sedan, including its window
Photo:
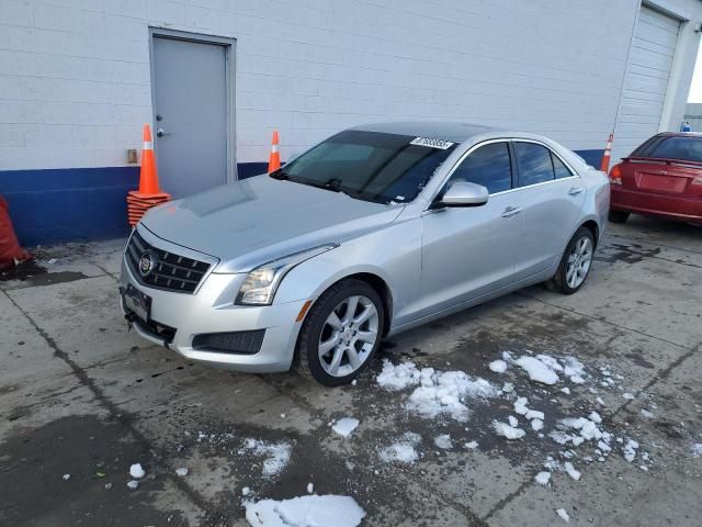
[[[485,184],[491,193],[484,205],[427,211],[422,216],[421,287],[427,312],[471,301],[514,279],[521,228],[509,191],[512,167],[507,143],[486,142],[469,150],[448,186],[454,180]]]

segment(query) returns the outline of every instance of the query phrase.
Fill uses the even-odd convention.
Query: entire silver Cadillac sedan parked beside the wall
[[[388,335],[539,282],[576,292],[609,195],[604,173],[539,135],[359,126],[146,214],[122,309],[189,359],[343,384]]]

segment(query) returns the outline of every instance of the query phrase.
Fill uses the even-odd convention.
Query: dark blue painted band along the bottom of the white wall
[[[603,150],[576,150],[599,167]],[[267,162],[240,162],[239,179],[265,173]],[[20,243],[76,242],[125,236],[126,195],[138,187],[139,167],[0,171],[0,194]]]

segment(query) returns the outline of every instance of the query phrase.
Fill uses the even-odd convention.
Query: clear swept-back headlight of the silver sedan
[[[309,258],[333,249],[338,245],[329,244],[263,264],[250,271],[237,294],[237,304],[269,305],[273,302],[275,291],[287,272]]]

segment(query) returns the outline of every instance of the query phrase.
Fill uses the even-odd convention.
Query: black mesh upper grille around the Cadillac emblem
[[[139,271],[139,260],[150,253],[155,259],[154,269],[146,276]],[[144,285],[149,288],[192,293],[210,269],[206,261],[193,260],[184,256],[174,255],[146,242],[137,231],[134,231],[127,245],[126,259],[132,274]]]

